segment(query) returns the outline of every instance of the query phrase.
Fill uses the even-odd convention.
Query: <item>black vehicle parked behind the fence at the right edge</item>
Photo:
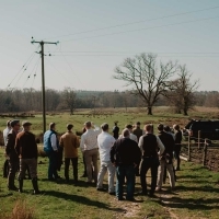
[[[198,141],[198,131],[200,131],[200,141],[205,138],[209,140],[219,140],[219,120],[194,120],[192,119],[184,128],[183,136],[185,139]]]

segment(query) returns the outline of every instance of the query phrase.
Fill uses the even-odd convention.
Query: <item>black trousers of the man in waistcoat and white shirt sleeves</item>
[[[140,183],[142,187],[142,193],[147,193],[147,183],[146,183],[146,175],[148,170],[151,170],[151,191],[150,193],[153,194],[155,186],[157,186],[157,177],[158,177],[158,166],[159,160],[158,158],[143,158],[141,162],[140,169]]]

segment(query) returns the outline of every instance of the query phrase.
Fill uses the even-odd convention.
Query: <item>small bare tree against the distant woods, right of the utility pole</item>
[[[73,115],[73,112],[77,108],[77,93],[71,88],[65,88],[62,94],[64,94],[62,97],[64,97],[65,104],[70,110],[70,115]]]

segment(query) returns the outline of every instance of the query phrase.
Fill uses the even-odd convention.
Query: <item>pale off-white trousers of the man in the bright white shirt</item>
[[[103,178],[106,174],[106,171],[108,171],[108,193],[115,192],[114,188],[114,177],[116,173],[116,168],[112,164],[111,161],[101,162],[101,170],[97,176],[97,188],[103,187]]]

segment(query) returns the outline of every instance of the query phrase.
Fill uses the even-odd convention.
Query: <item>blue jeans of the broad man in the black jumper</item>
[[[116,166],[116,197],[123,198],[123,186],[126,177],[127,187],[126,187],[126,199],[134,198],[135,192],[135,168],[134,165],[120,165]]]

